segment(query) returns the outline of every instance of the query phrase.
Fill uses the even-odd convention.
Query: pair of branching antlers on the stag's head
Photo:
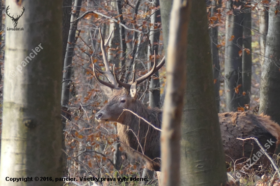
[[[112,32],[113,33],[113,32]],[[111,34],[112,34],[111,33]],[[154,55],[154,65],[153,65],[153,68],[150,70],[150,72],[148,72],[147,74],[145,74],[144,76],[142,77],[139,77],[138,79],[135,80],[135,71],[133,72],[133,77],[132,77],[132,81],[130,83],[124,83],[122,82],[121,80],[119,80],[117,78],[117,74],[115,72],[115,65],[113,67],[113,73],[114,73],[114,76],[113,74],[111,73],[110,69],[109,69],[109,63],[108,63],[108,59],[107,59],[107,54],[106,54],[106,51],[105,51],[105,45],[104,45],[104,40],[103,40],[103,37],[102,37],[102,34],[101,34],[101,30],[99,28],[99,34],[100,34],[100,40],[101,40],[101,51],[102,51],[102,55],[103,55],[103,61],[104,61],[104,65],[105,65],[105,71],[101,71],[100,69],[98,69],[94,64],[93,64],[93,73],[94,73],[94,76],[96,78],[96,80],[98,82],[100,82],[101,84],[104,84],[110,88],[117,88],[118,87],[118,84],[125,87],[126,89],[130,89],[132,83],[134,83],[135,81],[137,82],[137,84],[145,81],[146,79],[150,78],[156,71],[158,71],[165,63],[165,56],[161,59],[160,63],[158,65],[156,65],[156,55]],[[110,34],[110,36],[111,36]],[[110,36],[109,38],[107,39],[107,42],[109,41],[110,39]],[[106,42],[106,44],[107,44]],[[104,76],[107,77],[107,79],[111,82],[111,83],[108,83],[108,82],[105,82],[101,79],[99,79],[96,75],[96,70],[103,74]]]

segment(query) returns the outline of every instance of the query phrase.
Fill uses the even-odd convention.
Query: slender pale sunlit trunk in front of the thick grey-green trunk
[[[166,65],[166,96],[162,113],[160,185],[180,185],[180,140],[186,47],[191,1],[174,1]],[[205,8],[206,11],[206,8]],[[162,20],[164,21],[164,20]],[[165,23],[164,23],[165,24]],[[182,55],[183,54],[183,55]]]

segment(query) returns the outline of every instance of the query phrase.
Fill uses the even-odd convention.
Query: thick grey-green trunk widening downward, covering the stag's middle
[[[191,2],[181,129],[181,185],[221,185],[226,183],[227,174],[214,99],[206,3]]]

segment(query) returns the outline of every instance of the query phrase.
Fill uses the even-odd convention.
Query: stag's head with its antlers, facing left
[[[105,71],[101,71],[93,64],[93,73],[98,82],[105,85],[105,94],[109,97],[108,103],[96,113],[95,118],[98,121],[115,121],[123,123],[124,114],[123,109],[129,109],[137,99],[137,84],[150,78],[156,71],[158,71],[165,63],[165,57],[162,58],[160,63],[156,65],[156,60],[154,61],[153,68],[144,76],[139,77],[135,80],[135,71],[133,72],[132,81],[130,83],[124,83],[117,78],[115,72],[115,66],[113,67],[113,74],[109,69],[107,54],[105,51],[104,40],[99,29],[100,40],[101,40],[101,51],[103,55],[103,61],[105,65]],[[110,36],[109,36],[110,37]],[[107,39],[107,41],[109,38]],[[103,74],[110,83],[103,81],[97,77],[97,72]],[[103,88],[104,89],[104,88]]]

